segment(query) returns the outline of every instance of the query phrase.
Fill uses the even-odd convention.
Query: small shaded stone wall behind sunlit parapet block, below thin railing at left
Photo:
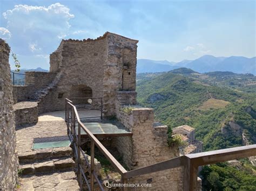
[[[12,96],[14,97],[14,104],[19,101],[28,100],[29,95],[33,92],[33,87],[31,86],[13,86]],[[32,91],[32,92],[31,92]]]

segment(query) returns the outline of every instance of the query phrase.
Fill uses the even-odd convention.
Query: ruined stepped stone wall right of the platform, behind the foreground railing
[[[178,147],[167,144],[167,126],[153,126],[151,108],[119,110],[118,119],[132,132],[132,137],[114,138],[126,166],[132,170],[179,156]],[[129,179],[130,183],[151,183],[147,190],[183,190],[184,167],[163,170]],[[142,189],[143,190],[143,189]]]

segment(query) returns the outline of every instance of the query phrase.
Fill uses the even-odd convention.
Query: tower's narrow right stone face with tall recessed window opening
[[[107,33],[107,60],[104,64],[104,114],[116,114],[118,90],[136,89],[137,43],[113,33]]]

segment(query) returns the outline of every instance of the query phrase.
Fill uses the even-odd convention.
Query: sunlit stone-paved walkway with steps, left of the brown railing
[[[23,169],[18,190],[79,190],[70,147],[31,149],[33,138],[66,135],[64,117],[63,111],[45,113],[36,124],[16,127],[19,168]]]

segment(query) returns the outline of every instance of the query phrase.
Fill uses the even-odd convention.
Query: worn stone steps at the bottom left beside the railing
[[[70,147],[19,154],[19,190],[79,190]]]

